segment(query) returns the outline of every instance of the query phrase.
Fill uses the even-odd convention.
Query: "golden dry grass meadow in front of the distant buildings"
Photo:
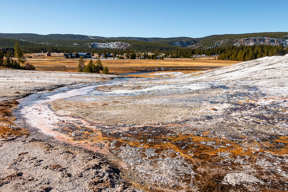
[[[27,54],[36,55],[34,54]],[[210,58],[210,60],[209,60]],[[101,60],[103,66],[109,68],[109,72],[115,72],[115,74],[134,72],[139,69],[155,69],[155,62],[158,70],[161,70],[162,66],[164,69],[180,70],[207,70],[218,68],[222,66],[232,65],[238,63],[237,61],[222,61],[212,60],[213,57],[201,57],[195,58],[195,60],[188,58],[181,59],[170,59],[154,60],[154,59],[103,59]],[[86,59],[86,63],[90,59]],[[92,59],[94,62],[96,59]],[[33,64],[37,70],[41,71],[67,71],[77,72],[78,59],[64,59],[60,55],[58,57],[35,57],[27,58],[27,62]],[[64,67],[65,66],[65,67]],[[187,72],[185,72],[187,73]]]

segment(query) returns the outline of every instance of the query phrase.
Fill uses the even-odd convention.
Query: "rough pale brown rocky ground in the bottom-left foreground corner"
[[[93,153],[32,134],[0,141],[0,191],[141,191]]]

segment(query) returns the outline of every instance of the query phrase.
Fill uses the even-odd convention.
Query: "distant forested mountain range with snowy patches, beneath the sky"
[[[6,40],[4,40],[6,39]],[[32,33],[0,33],[0,46],[11,46],[13,39],[21,41],[23,45],[29,43],[39,45],[65,47],[65,50],[97,50],[97,49],[130,49],[142,51],[169,51],[175,48],[213,48],[231,45],[274,45],[288,47],[288,32],[264,32],[247,34],[211,35],[201,38],[172,37],[172,38],[144,38],[144,37],[100,37],[75,34]],[[20,43],[20,42],[19,42]],[[21,43],[20,43],[21,45]],[[53,48],[54,49],[54,48]],[[62,49],[61,49],[62,50]]]

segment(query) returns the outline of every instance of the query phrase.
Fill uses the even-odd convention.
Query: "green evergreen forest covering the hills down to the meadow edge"
[[[14,35],[14,36],[13,36]],[[219,41],[223,38],[229,37],[233,38],[245,38],[261,35],[270,38],[282,38],[288,39],[287,32],[277,32],[277,33],[250,33],[250,34],[226,34],[226,35],[212,35],[208,37],[201,38],[189,38],[189,37],[175,37],[175,38],[134,38],[134,37],[118,37],[112,39],[99,40],[103,37],[92,36],[95,38],[91,40],[89,36],[89,40],[87,40],[87,36],[85,35],[73,35],[73,34],[50,34],[50,35],[38,35],[38,34],[0,34],[0,37],[27,37],[33,38],[34,42],[28,41],[19,41],[16,39],[7,39],[0,38],[0,47],[14,47],[15,43],[18,42],[23,49],[24,53],[69,53],[69,52],[92,52],[92,53],[116,53],[119,55],[123,55],[124,53],[128,53],[133,55],[131,58],[135,58],[137,55],[138,58],[140,56],[147,59],[154,59],[155,55],[160,55],[160,53],[164,53],[165,57],[170,55],[171,58],[180,58],[186,57],[191,58],[193,55],[217,55],[217,59],[219,60],[236,60],[236,61],[248,61],[257,59],[265,56],[272,55],[285,55],[288,53],[288,47],[284,46],[272,46],[272,45],[221,45],[219,47],[214,48],[187,48],[187,47],[177,47],[174,45],[169,45],[172,41],[182,40],[183,42],[190,42],[191,44],[196,41],[201,40],[202,44],[210,41]],[[43,36],[45,37],[43,39]],[[38,39],[37,39],[38,38]],[[133,39],[134,40],[131,40]],[[66,40],[64,40],[66,39]],[[90,47],[93,43],[113,43],[115,39],[118,41],[121,40],[123,43],[129,44],[128,48],[125,49],[109,49],[103,48],[99,49],[97,47]],[[46,40],[46,43],[43,42]],[[154,53],[152,56],[148,54],[140,54],[140,53]],[[158,57],[157,57],[158,58]],[[160,58],[160,57],[159,57]]]

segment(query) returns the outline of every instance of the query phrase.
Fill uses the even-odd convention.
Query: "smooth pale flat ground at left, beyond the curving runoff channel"
[[[98,83],[99,81],[107,81],[115,77],[117,76],[0,69],[0,101],[22,98],[32,93],[63,86]],[[16,91],[19,93],[15,93]]]

